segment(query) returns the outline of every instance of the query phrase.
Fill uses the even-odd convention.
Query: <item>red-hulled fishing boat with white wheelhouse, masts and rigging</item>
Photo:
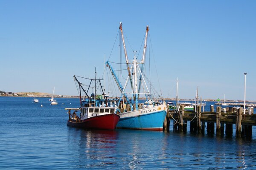
[[[69,110],[68,111],[69,119],[67,121],[67,125],[73,126],[73,127],[86,128],[86,129],[114,130],[116,128],[117,122],[120,119],[120,116],[116,114],[117,105],[110,106],[111,105],[110,101],[112,101],[112,104],[114,101],[109,99],[108,95],[105,95],[104,93],[102,95],[91,94],[90,96],[88,96],[87,91],[84,90],[84,88],[82,87],[82,84],[78,81],[76,76],[74,76],[74,79],[75,79],[75,82],[78,83],[80,88],[81,107],[65,108],[65,110]],[[87,78],[84,78],[84,79],[87,79]],[[88,78],[88,80],[90,80],[90,82],[95,81],[95,87],[96,87],[96,81],[100,82],[100,80],[102,79]],[[90,88],[90,85],[89,85],[89,88]],[[101,84],[99,83],[99,85]],[[87,98],[81,99],[81,89],[84,91],[85,97]],[[115,101],[117,103],[117,100]],[[74,110],[73,113],[71,113],[72,110]]]

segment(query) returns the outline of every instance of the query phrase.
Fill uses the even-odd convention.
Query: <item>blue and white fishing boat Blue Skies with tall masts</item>
[[[128,78],[126,79],[125,86],[122,86],[116,71],[111,66],[111,63],[109,61],[106,62],[106,66],[110,69],[113,78],[121,91],[118,104],[119,108],[116,110],[120,116],[119,122],[116,125],[118,128],[157,131],[163,130],[163,122],[166,119],[167,113],[166,103],[152,102],[154,99],[151,98],[147,83],[144,79],[145,74],[143,74],[148,30],[149,29],[147,26],[142,60],[137,60],[136,51],[133,51],[134,57],[133,60],[130,61],[128,60],[128,55],[126,53],[125,41],[122,32],[122,23],[120,23],[119,31],[122,35],[126,66],[128,70]],[[131,88],[127,90],[128,84],[131,84]],[[129,97],[128,95],[131,96]],[[145,103],[139,103],[138,99],[140,95],[144,95],[146,99]]]

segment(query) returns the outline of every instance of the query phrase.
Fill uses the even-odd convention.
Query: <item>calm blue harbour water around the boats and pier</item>
[[[67,127],[64,110],[79,99],[38,99],[0,97],[0,169],[256,168],[255,128],[250,140],[195,136],[189,127],[186,134],[82,130]]]

